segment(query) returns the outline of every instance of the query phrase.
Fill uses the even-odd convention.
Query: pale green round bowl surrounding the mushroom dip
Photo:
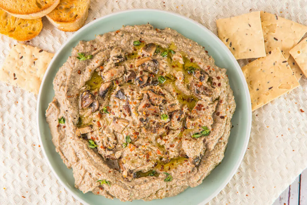
[[[64,64],[68,56],[71,55],[72,48],[76,46],[80,40],[92,40],[95,38],[95,35],[115,31],[121,28],[122,25],[141,25],[147,22],[160,29],[170,27],[177,30],[185,37],[198,42],[208,50],[209,55],[213,56],[217,66],[227,69],[227,75],[231,88],[234,91],[237,109],[232,118],[234,127],[231,129],[225,157],[222,163],[204,179],[201,185],[195,188],[188,188],[174,197],[156,199],[149,202],[135,200],[133,202],[124,203],[119,201],[119,199],[110,200],[92,193],[83,194],[74,187],[72,169],[66,168],[60,155],[56,153],[55,147],[51,141],[51,134],[46,122],[45,112],[54,96],[52,80],[58,69]],[[207,28],[189,18],[162,10],[125,10],[109,14],[85,25],[70,37],[56,53],[45,73],[38,94],[37,127],[38,136],[42,145],[41,148],[53,173],[63,186],[74,195],[76,199],[84,204],[204,204],[216,196],[226,186],[243,159],[251,131],[251,100],[239,64],[222,41]]]

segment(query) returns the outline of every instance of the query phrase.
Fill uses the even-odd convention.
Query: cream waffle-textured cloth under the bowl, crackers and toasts
[[[216,34],[216,19],[265,10],[306,25],[305,0],[214,1],[92,0],[86,23],[112,12],[156,8],[190,17]],[[73,33],[43,17],[44,28],[29,42],[55,53]],[[0,36],[0,65],[17,41]],[[240,60],[240,65],[247,60]],[[251,139],[229,184],[208,204],[271,204],[307,167],[307,79],[301,87],[252,114]],[[39,145],[37,97],[0,82],[0,204],[80,204],[56,180]],[[305,110],[301,112],[300,109]]]

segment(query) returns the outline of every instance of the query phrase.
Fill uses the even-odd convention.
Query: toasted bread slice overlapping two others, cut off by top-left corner
[[[0,0],[0,8],[17,18],[37,19],[49,14],[60,0]]]

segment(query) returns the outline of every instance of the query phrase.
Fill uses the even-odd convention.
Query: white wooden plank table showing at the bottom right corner
[[[282,192],[273,205],[307,205],[307,169]]]

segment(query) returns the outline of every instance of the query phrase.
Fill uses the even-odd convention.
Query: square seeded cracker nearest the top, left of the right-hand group
[[[260,12],[216,20],[217,33],[235,59],[266,56]]]

